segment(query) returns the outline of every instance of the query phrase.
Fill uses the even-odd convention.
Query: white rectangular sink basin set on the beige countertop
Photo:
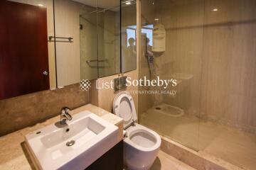
[[[114,147],[117,133],[117,126],[89,111],[83,111],[74,115],[65,128],[52,124],[25,138],[40,169],[80,170]]]

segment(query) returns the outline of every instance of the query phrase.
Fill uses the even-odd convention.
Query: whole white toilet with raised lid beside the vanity
[[[146,170],[156,159],[161,145],[160,136],[138,123],[132,96],[126,91],[117,94],[114,114],[124,119],[124,165],[132,170]]]

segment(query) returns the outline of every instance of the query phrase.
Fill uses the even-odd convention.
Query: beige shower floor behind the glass
[[[175,118],[150,112],[142,115],[140,123],[206,157],[210,154],[244,169],[256,167],[256,135],[252,133],[202,121],[193,115]]]

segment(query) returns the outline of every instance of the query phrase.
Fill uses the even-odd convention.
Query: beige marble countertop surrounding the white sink
[[[123,133],[123,120],[122,118],[113,115],[110,112],[103,110],[97,106],[93,106],[92,104],[87,104],[80,108],[76,108],[73,111],[70,111],[71,115],[75,115],[81,111],[90,111],[100,116],[104,120],[117,125],[119,128],[119,135],[117,137],[117,142],[122,140]],[[31,161],[27,156],[26,149],[23,147],[23,143],[25,140],[25,135],[29,132],[33,132],[35,130],[41,129],[46,125],[50,125],[51,123],[55,123],[59,120],[60,116],[55,116],[46,120],[45,122],[38,123],[33,125],[32,127],[23,128],[21,130],[17,130],[16,132],[12,132],[8,135],[4,135],[0,137],[0,169],[6,170],[28,170],[33,169],[33,165],[31,167]]]

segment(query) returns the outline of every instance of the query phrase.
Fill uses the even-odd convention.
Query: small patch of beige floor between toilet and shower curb
[[[191,166],[171,157],[165,152],[159,151],[156,161],[150,170],[195,170]]]

